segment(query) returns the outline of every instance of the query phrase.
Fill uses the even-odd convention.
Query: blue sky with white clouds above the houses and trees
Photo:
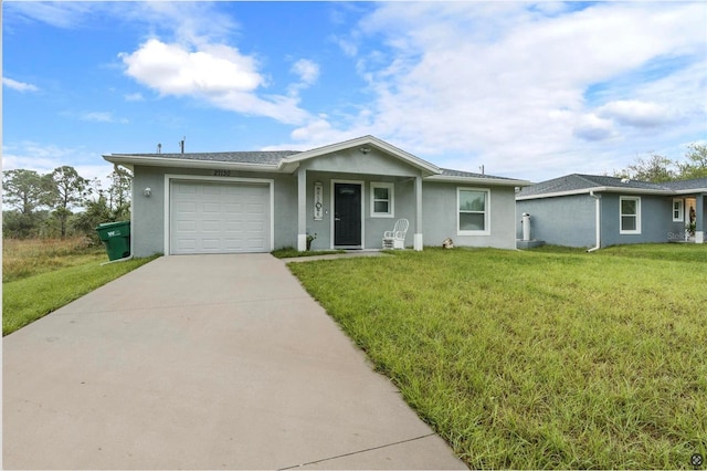
[[[2,2],[2,164],[374,135],[540,181],[707,140],[707,3]]]

